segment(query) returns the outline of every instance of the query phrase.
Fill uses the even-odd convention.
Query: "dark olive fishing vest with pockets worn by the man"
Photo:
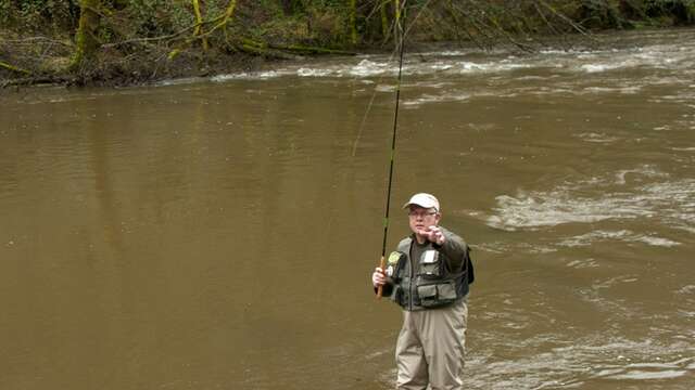
[[[391,300],[407,311],[440,308],[451,304],[468,294],[473,282],[469,248],[464,244],[465,259],[462,270],[448,269],[450,259],[429,243],[419,259],[410,259],[413,237],[407,237],[389,256],[387,274],[393,282]]]

